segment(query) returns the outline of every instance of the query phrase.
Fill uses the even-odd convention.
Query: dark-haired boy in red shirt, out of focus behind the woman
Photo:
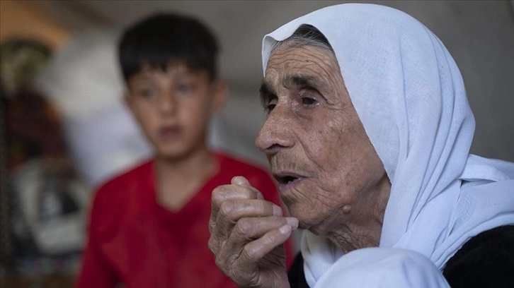
[[[235,287],[207,248],[212,190],[242,175],[280,200],[266,172],[207,148],[226,95],[215,37],[161,14],[125,31],[119,53],[127,105],[155,157],[96,193],[78,287]]]

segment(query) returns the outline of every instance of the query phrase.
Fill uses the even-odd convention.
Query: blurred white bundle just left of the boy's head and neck
[[[59,109],[77,171],[95,188],[152,155],[122,100],[117,43],[118,32],[110,30],[76,35],[35,81]]]

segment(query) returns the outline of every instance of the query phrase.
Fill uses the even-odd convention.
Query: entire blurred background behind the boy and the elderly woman
[[[151,151],[122,104],[120,29],[156,11],[210,25],[230,94],[214,148],[267,167],[253,145],[261,40],[348,1],[0,1],[0,286],[72,287],[94,188]],[[399,8],[445,43],[476,118],[472,152],[514,162],[514,1],[365,1]]]

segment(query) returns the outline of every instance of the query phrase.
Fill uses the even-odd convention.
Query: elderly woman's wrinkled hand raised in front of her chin
[[[283,244],[297,227],[242,176],[212,191],[209,248],[239,287],[289,287]]]

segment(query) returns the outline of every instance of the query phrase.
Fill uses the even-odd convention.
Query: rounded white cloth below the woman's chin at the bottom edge
[[[435,265],[415,251],[363,248],[342,257],[328,239],[307,235],[302,253],[307,256],[304,271],[311,287],[448,287]]]

